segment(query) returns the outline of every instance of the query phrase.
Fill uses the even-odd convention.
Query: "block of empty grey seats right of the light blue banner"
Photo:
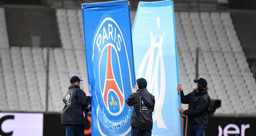
[[[193,91],[195,50],[200,47],[199,76],[208,81],[210,97],[222,100],[222,106],[216,113],[256,113],[255,80],[230,14],[176,12],[175,25],[180,82],[185,94]]]

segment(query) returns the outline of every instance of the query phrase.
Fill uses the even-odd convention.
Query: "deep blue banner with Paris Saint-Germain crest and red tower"
[[[82,4],[92,135],[131,135],[135,85],[130,7],[126,0]]]

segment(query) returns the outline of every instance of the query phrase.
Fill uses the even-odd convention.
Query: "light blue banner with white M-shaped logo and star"
[[[136,78],[155,96],[152,135],[183,136],[174,10],[171,0],[140,2],[132,27]]]

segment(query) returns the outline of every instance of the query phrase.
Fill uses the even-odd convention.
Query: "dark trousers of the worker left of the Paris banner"
[[[84,127],[85,125],[65,125],[66,127],[66,136],[84,136]]]

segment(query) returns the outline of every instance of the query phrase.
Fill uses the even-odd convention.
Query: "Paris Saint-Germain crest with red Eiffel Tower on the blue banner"
[[[109,129],[125,135],[131,129],[132,109],[125,104],[125,98],[130,96],[133,88],[128,58],[122,30],[113,18],[103,19],[96,29],[92,55],[92,61],[97,65],[95,70],[98,70],[95,73],[99,74],[95,75],[99,82],[96,114],[101,135],[109,135]],[[131,92],[127,93],[127,90]]]

